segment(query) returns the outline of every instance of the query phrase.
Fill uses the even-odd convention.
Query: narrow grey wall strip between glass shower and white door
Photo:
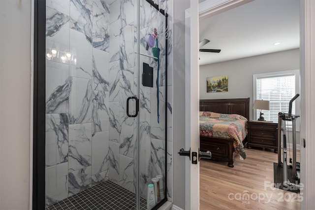
[[[190,0],[174,0],[173,41],[173,203],[185,209],[185,10]]]

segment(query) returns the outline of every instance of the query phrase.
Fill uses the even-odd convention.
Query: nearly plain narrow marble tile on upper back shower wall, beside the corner
[[[119,61],[120,59],[120,20],[110,24],[109,54],[110,61]]]

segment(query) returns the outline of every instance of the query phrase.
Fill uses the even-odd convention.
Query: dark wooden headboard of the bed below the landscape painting
[[[200,100],[199,110],[222,114],[239,114],[250,120],[250,98]]]

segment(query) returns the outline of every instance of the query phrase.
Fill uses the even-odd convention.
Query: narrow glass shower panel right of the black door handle
[[[140,0],[139,4],[139,196],[145,208],[151,209],[167,198],[167,15],[152,1]]]

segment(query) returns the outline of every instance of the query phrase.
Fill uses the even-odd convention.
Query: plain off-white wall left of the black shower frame
[[[27,210],[31,0],[0,0],[0,34],[0,210]]]

